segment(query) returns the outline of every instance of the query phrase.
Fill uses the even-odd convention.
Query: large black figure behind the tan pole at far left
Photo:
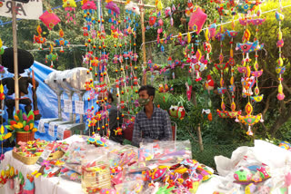
[[[2,55],[1,63],[4,67],[7,68],[9,73],[14,73],[14,54],[13,48],[6,48],[5,53]],[[25,73],[25,69],[30,68],[34,63],[34,57],[31,53],[18,49],[18,84],[19,84],[19,104],[25,104],[25,112],[28,113],[32,110],[31,100],[29,98],[23,97],[24,95],[28,94],[28,86],[29,83],[33,86],[33,105],[34,105],[34,113],[35,113],[35,120],[39,120],[41,118],[41,114],[39,114],[37,108],[37,97],[36,97],[36,88],[38,87],[38,82],[31,77],[23,77],[20,74]],[[6,86],[8,92],[6,93],[5,98],[5,105],[7,106],[7,113],[8,118],[13,120],[13,112],[15,107],[15,99],[9,97],[15,93],[15,78],[14,77],[7,77],[2,80],[2,84]]]

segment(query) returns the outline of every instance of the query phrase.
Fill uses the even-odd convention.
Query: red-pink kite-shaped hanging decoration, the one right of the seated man
[[[199,34],[203,24],[206,22],[206,18],[207,15],[202,9],[199,6],[195,6],[188,24],[189,31],[195,31],[196,34]]]

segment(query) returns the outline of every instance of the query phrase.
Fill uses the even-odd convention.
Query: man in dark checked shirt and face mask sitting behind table
[[[154,105],[155,88],[144,85],[138,90],[138,102],[144,110],[135,116],[133,145],[140,142],[172,141],[172,128],[166,111]]]

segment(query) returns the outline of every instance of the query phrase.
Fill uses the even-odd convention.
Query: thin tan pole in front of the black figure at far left
[[[19,110],[19,87],[18,87],[18,56],[17,56],[17,32],[16,32],[16,10],[15,1],[12,2],[12,34],[15,67],[15,111]]]

